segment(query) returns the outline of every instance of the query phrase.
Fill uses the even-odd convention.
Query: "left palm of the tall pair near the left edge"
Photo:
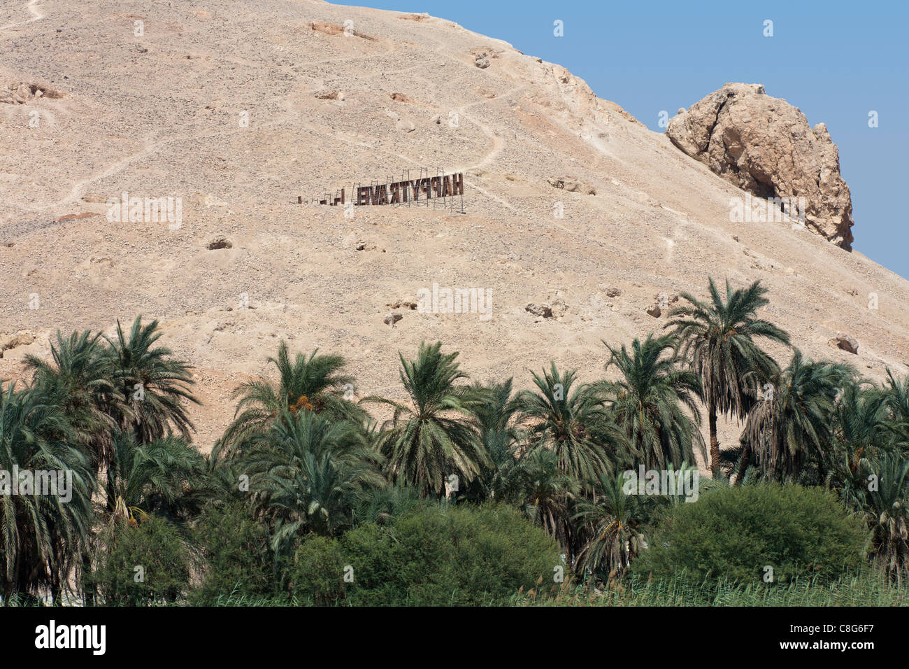
[[[95,473],[105,469],[116,427],[112,416],[129,409],[106,355],[104,340],[88,330],[73,332],[64,339],[57,330],[56,342],[51,344],[51,360],[27,355],[25,369],[33,372],[32,386],[43,401],[65,413],[73,431],[67,435],[89,456]]]

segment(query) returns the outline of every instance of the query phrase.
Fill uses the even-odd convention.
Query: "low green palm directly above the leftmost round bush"
[[[153,506],[179,501],[204,468],[199,451],[173,434],[142,443],[133,431],[118,431],[114,444],[115,457],[105,483],[111,522],[135,524]]]

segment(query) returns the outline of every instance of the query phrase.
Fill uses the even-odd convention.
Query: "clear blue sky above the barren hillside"
[[[361,3],[338,3],[361,5]],[[852,190],[853,248],[909,278],[909,0],[369,0],[428,12],[568,68],[652,130],[726,82],[824,122]],[[564,24],[564,36],[553,23]],[[764,21],[774,35],[764,36]],[[869,127],[870,111],[878,127]]]

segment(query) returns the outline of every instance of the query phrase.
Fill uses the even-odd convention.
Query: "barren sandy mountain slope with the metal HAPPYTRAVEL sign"
[[[37,337],[4,351],[0,378],[57,327],[160,319],[197,368],[207,450],[230,390],[280,338],[343,353],[359,396],[399,397],[397,352],[421,340],[460,350],[481,380],[527,387],[550,359],[591,380],[601,340],[661,329],[665,310],[645,312],[655,296],[703,297],[708,275],[761,279],[765,316],[808,355],[904,373],[904,279],[788,223],[730,222],[744,193],[664,135],[564,68],[444,19],[315,0],[5,0],[0,28],[0,91],[17,91],[0,100],[0,344]],[[466,214],[296,204],[419,167],[464,171]],[[591,188],[548,182],[566,177]],[[182,198],[182,225],[109,222],[123,192]],[[232,248],[209,250],[219,237]],[[492,318],[388,306],[434,283],[489,289]],[[524,309],[555,299],[559,318]],[[838,330],[857,356],[830,346]]]

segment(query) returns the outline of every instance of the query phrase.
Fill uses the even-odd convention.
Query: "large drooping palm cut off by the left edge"
[[[72,431],[59,407],[43,401],[35,390],[16,392],[14,384],[4,389],[0,383],[0,592],[4,599],[13,593],[36,595],[47,587],[56,601],[85,552],[94,522],[91,465],[82,451],[56,439]],[[36,472],[56,474],[56,490],[16,490],[20,481],[12,477],[24,471],[33,477]]]

